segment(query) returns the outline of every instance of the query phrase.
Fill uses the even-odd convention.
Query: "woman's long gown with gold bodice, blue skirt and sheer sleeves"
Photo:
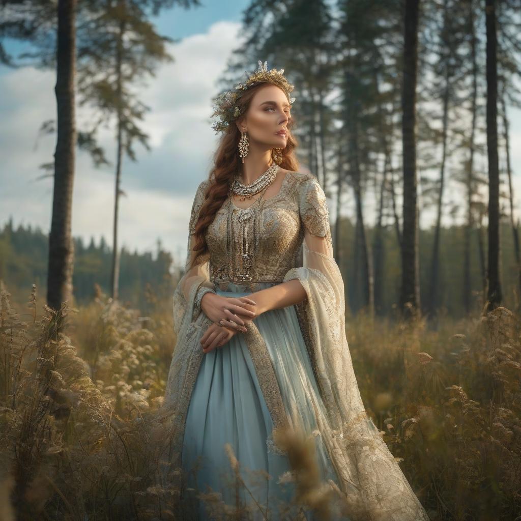
[[[316,178],[289,171],[277,195],[248,208],[228,198],[207,230],[208,252],[190,268],[209,184],[201,182],[192,205],[161,411],[175,433],[169,460],[180,472],[168,479],[181,480],[182,504],[194,518],[214,519],[209,496],[197,497],[213,492],[213,512],[220,505],[223,519],[226,505],[238,500],[249,512],[244,518],[317,519],[305,505],[284,510],[294,497],[295,475],[273,433],[300,429],[315,441],[320,479],[338,500],[331,519],[427,521],[359,394],[345,338],[344,286]],[[247,332],[202,353],[200,339],[211,322],[194,304],[197,290],[243,296],[291,279],[301,282],[305,301],[255,317]]]

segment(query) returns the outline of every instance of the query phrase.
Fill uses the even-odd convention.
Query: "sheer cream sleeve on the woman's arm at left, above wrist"
[[[184,263],[184,275],[179,279],[175,291],[173,292],[173,329],[178,336],[181,330],[183,321],[195,320],[196,315],[200,310],[194,306],[194,299],[197,290],[201,286],[213,288],[213,283],[210,282],[209,275],[209,253],[200,255],[197,258],[193,267],[190,267],[191,261],[194,258],[194,232],[197,219],[199,218],[199,211],[204,202],[206,188],[208,181],[202,181],[197,187],[195,197],[192,203],[190,212],[190,222],[188,227],[188,243],[187,243],[187,257]]]

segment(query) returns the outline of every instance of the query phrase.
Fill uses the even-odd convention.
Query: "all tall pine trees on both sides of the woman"
[[[53,40],[49,27],[63,2],[55,12],[46,0],[7,1],[0,36],[30,41],[40,50],[34,57],[55,66],[49,42],[60,40],[56,34]],[[75,19],[67,19],[76,29],[68,32],[77,40],[75,94],[93,107],[93,126],[79,129],[78,144],[96,164],[106,158],[95,129],[108,117],[117,121],[116,249],[110,283],[115,297],[121,157],[125,152],[134,159],[132,143],[147,142],[138,125],[146,107],[131,94],[131,86],[152,73],[158,61],[170,59],[164,47],[169,39],[155,32],[150,16],[173,5],[200,4],[77,0]],[[393,294],[401,311],[410,303],[433,316],[455,301],[463,303],[466,313],[487,301],[519,308],[521,255],[508,123],[511,108],[521,106],[516,89],[520,16],[515,0],[256,0],[244,10],[239,33],[244,40],[223,84],[229,88],[241,81],[244,70],[251,72],[259,59],[284,68],[295,84],[301,161],[328,195],[336,214],[331,221],[342,224],[349,217],[354,223],[352,233],[349,226],[334,232],[353,313],[388,311],[393,247],[401,259],[392,280],[401,280]],[[1,44],[0,58],[12,61]],[[58,67],[57,86],[62,85],[59,72]],[[70,94],[67,88],[62,93]],[[64,107],[58,127],[60,117],[64,125],[73,117],[70,103]],[[60,135],[58,128],[54,168],[63,169],[65,161],[66,171],[55,177],[58,183],[69,179],[74,168],[71,144],[60,148]],[[53,236],[51,244],[57,241],[64,258],[52,263],[57,253],[49,253],[49,269],[56,272],[48,276],[60,281],[51,299],[60,301],[70,276],[70,190],[55,190],[56,197],[53,222],[56,218],[60,237]],[[431,230],[420,233],[420,221]],[[449,247],[444,237],[458,230],[444,228],[456,223],[463,227],[462,248],[453,258],[453,251],[443,253]],[[424,235],[432,240],[422,240]],[[453,281],[448,274],[455,267],[460,277]],[[476,292],[481,292],[478,302]]]

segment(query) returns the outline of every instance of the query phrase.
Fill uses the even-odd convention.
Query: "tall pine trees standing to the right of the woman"
[[[245,43],[222,84],[241,80],[259,59],[283,67],[295,84],[301,158],[336,218],[354,219],[352,237],[341,230],[334,235],[337,261],[349,259],[343,275],[351,281],[353,312],[386,312],[386,263],[395,252],[382,239],[385,231],[395,235],[402,255],[394,274],[402,276],[400,307],[421,303],[432,316],[456,297],[468,313],[476,291],[479,307],[487,299],[519,307],[519,208],[511,204],[508,118],[520,106],[520,24],[511,0],[258,0],[245,10]],[[506,165],[499,191],[494,154]],[[489,207],[499,209],[490,223]],[[415,219],[431,230],[415,231]],[[513,250],[500,247],[500,222]],[[443,238],[459,233],[443,228],[455,223],[464,229],[462,251],[443,256],[449,247]],[[421,239],[431,234],[432,240]],[[452,280],[455,268],[459,277]]]

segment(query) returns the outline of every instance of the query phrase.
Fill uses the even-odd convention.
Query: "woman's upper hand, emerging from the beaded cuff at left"
[[[203,295],[201,309],[212,322],[243,332],[257,314],[256,303],[247,296],[222,296],[210,291]]]

